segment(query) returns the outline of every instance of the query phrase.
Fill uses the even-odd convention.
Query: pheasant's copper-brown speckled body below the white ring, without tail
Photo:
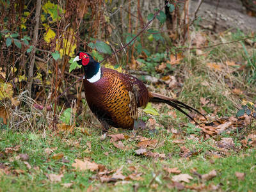
[[[136,77],[101,68],[102,77],[95,83],[84,79],[88,106],[100,119],[113,127],[132,129],[138,108],[149,101],[146,86]]]

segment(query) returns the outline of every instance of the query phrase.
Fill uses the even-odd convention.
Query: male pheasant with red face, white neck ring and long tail
[[[138,119],[138,108],[147,106],[148,102],[169,104],[196,124],[194,118],[181,108],[202,115],[198,110],[179,100],[148,92],[145,84],[136,77],[122,74],[111,68],[100,67],[100,63],[93,60],[87,52],[78,52],[73,61],[83,66],[84,93],[88,106],[105,131],[109,127],[133,129],[134,120]]]

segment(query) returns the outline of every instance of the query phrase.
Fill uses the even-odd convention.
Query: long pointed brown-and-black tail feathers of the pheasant
[[[178,111],[180,111],[181,113],[183,113],[184,115],[188,116],[188,118],[190,118],[191,120],[193,120],[193,122],[195,122],[197,125],[198,122],[195,121],[195,119],[188,115],[188,113],[186,113],[186,111],[184,111],[183,109],[188,109],[189,111],[193,112],[195,111],[196,113],[204,116],[202,113],[200,113],[197,109],[192,108],[191,106],[188,106],[186,104],[184,104],[183,102],[180,102],[179,100],[176,99],[172,99],[170,97],[158,94],[158,93],[149,93],[149,101],[150,102],[163,102],[166,103],[170,106],[172,106],[173,108],[177,109]],[[183,109],[181,109],[183,108]],[[204,116],[204,118],[207,120],[207,118]]]

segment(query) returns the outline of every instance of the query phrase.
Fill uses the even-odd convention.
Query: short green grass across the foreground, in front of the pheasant
[[[84,190],[91,184],[95,190],[98,191],[127,191],[132,190],[132,185],[138,183],[139,191],[147,191],[148,184],[153,179],[153,173],[159,174],[159,180],[154,180],[152,184],[158,184],[157,191],[168,191],[166,184],[170,183],[170,178],[163,170],[163,165],[170,168],[177,167],[182,173],[188,173],[193,177],[191,184],[198,183],[196,175],[190,173],[190,170],[196,170],[200,174],[209,173],[211,170],[216,170],[217,177],[205,182],[208,185],[218,185],[220,188],[227,191],[247,191],[249,189],[255,189],[256,184],[256,151],[255,150],[241,150],[236,152],[235,150],[229,150],[225,156],[214,159],[207,154],[209,151],[218,152],[218,148],[212,147],[212,139],[206,141],[188,140],[184,141],[184,146],[189,150],[201,150],[199,154],[190,157],[190,159],[184,159],[180,157],[180,146],[173,144],[173,134],[166,131],[161,131],[160,134],[152,137],[159,142],[164,141],[164,145],[159,148],[152,148],[150,151],[166,154],[165,159],[154,159],[152,157],[138,156],[134,150],[138,149],[136,143],[138,141],[129,139],[123,141],[124,145],[131,147],[130,150],[121,150],[116,148],[113,143],[110,142],[109,137],[106,140],[101,141],[100,136],[84,136],[79,131],[74,131],[72,134],[57,135],[46,132],[46,137],[43,138],[43,134],[38,132],[36,134],[31,132],[17,132],[17,131],[1,131],[0,148],[1,153],[4,154],[6,147],[14,147],[20,145],[17,152],[4,154],[1,158],[1,162],[8,166],[10,173],[5,175],[1,174],[0,190],[1,191],[62,191],[70,189]],[[186,138],[186,137],[185,137]],[[74,141],[79,140],[79,145]],[[86,143],[90,141],[92,148],[89,149]],[[45,148],[58,147],[47,155]],[[108,152],[106,156],[104,152]],[[23,161],[14,160],[10,161],[10,158],[19,156],[19,154],[28,154],[28,163],[32,166],[31,170],[26,168]],[[61,159],[55,160],[52,158],[54,154],[63,154],[65,159],[70,161],[69,163],[63,163]],[[95,180],[95,172],[83,171],[79,172],[74,170],[72,163],[74,159],[82,159],[86,157],[90,161],[95,161],[97,164],[103,164],[108,170],[117,170],[123,166],[123,175],[127,176],[132,172],[128,169],[129,166],[135,166],[137,172],[143,173],[141,180],[131,180],[131,183],[125,185],[114,186],[115,183],[100,184],[99,180]],[[214,163],[212,164],[212,161]],[[127,162],[131,163],[128,164]],[[35,170],[33,167],[38,166],[39,170]],[[17,174],[15,170],[24,170],[24,173]],[[237,180],[235,172],[244,172],[246,177],[244,180]],[[60,174],[63,173],[61,182],[56,184],[49,182],[47,173]],[[169,179],[166,179],[169,178]],[[158,181],[158,182],[157,182]],[[71,188],[63,188],[61,183],[73,182]],[[202,182],[202,181],[201,181]]]

